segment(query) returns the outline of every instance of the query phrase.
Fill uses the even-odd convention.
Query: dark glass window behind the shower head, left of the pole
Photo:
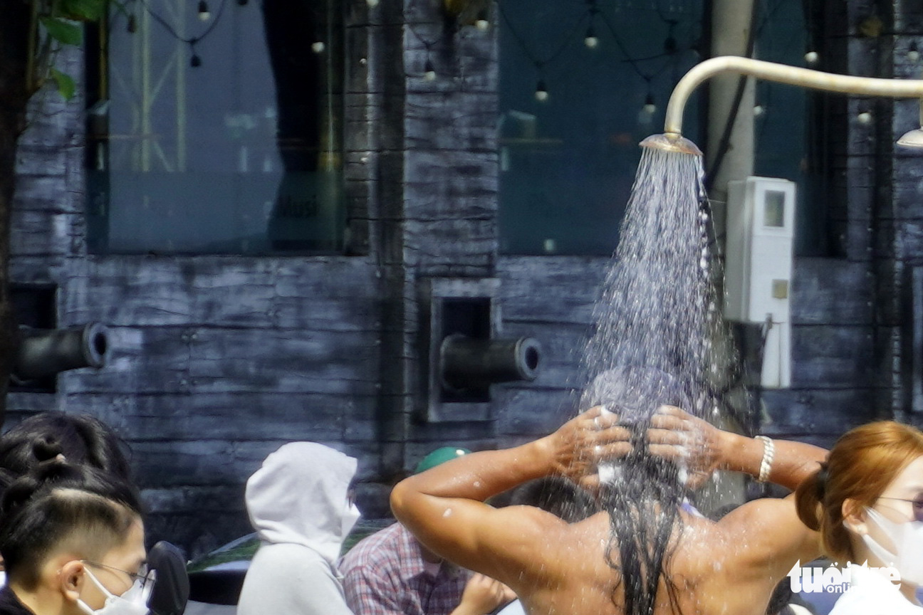
[[[641,157],[701,42],[702,0],[504,0],[500,250],[612,254]],[[697,141],[697,97],[685,136]]]

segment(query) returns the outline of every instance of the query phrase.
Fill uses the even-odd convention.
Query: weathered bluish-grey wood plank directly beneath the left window
[[[375,320],[378,278],[365,259],[203,261],[107,259],[66,279],[62,320],[354,331]]]

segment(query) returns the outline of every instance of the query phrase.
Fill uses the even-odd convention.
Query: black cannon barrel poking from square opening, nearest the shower
[[[442,381],[454,389],[534,380],[542,356],[532,337],[474,339],[459,334],[442,340]]]

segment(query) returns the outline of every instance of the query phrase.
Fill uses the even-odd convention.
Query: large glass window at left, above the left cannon
[[[342,0],[138,0],[88,36],[96,253],[342,249]]]

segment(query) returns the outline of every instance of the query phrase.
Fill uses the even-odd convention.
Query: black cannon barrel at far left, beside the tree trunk
[[[67,329],[22,327],[19,336],[13,377],[21,381],[106,364],[109,337],[106,327],[100,323]]]

